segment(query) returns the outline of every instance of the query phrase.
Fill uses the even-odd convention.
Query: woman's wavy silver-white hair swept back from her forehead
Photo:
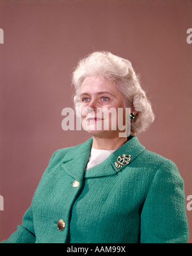
[[[79,95],[84,79],[90,76],[100,76],[115,81],[116,88],[124,96],[125,107],[138,112],[131,120],[131,133],[147,130],[154,121],[154,112],[129,60],[107,51],[96,51],[80,60],[72,75],[75,104],[80,102]]]

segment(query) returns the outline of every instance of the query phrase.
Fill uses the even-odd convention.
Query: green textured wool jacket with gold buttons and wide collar
[[[187,243],[184,183],[177,167],[145,149],[136,136],[128,139],[86,172],[92,138],[56,151],[22,225],[2,243]],[[117,169],[123,154],[131,160]]]

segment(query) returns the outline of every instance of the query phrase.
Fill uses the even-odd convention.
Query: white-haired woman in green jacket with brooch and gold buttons
[[[73,83],[92,137],[52,155],[22,225],[3,243],[186,243],[179,171],[136,137],[154,114],[131,63],[108,52],[92,53],[79,62]],[[117,119],[109,115],[104,129],[102,110],[111,108]],[[114,129],[118,109],[126,136],[120,135],[122,127]]]

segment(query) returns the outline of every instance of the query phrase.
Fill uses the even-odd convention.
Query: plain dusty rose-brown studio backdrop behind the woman
[[[192,194],[191,22],[190,0],[0,1],[0,241],[21,223],[52,153],[89,138],[64,132],[61,110],[73,106],[73,68],[92,51],[131,60],[156,114],[138,138],[177,164]]]

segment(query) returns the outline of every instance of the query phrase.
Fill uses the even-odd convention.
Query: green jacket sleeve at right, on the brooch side
[[[141,211],[141,243],[187,243],[184,182],[168,160],[156,172]]]

